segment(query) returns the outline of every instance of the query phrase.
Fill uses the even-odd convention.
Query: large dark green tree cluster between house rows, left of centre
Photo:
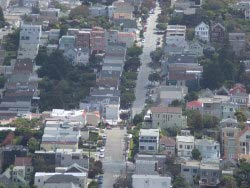
[[[45,54],[44,61],[39,60],[38,70],[42,81],[39,83],[41,111],[53,108],[73,109],[89,94],[89,88],[95,85],[93,69],[74,67],[56,51],[50,56]]]

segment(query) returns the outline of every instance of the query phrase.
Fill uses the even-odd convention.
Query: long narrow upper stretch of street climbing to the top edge
[[[137,83],[135,88],[135,96],[136,100],[133,103],[132,107],[132,117],[134,117],[136,114],[141,113],[141,111],[144,108],[145,105],[145,99],[146,99],[146,86],[149,83],[148,82],[148,75],[150,74],[150,67],[148,64],[151,61],[150,58],[150,52],[156,49],[156,41],[157,38],[162,37],[162,35],[154,34],[155,28],[156,28],[156,20],[158,17],[158,14],[160,14],[161,10],[157,3],[155,8],[155,13],[150,14],[148,21],[147,21],[147,31],[144,33],[145,37],[145,43],[143,47],[143,53],[140,56],[142,65],[140,67],[140,71],[137,77]]]

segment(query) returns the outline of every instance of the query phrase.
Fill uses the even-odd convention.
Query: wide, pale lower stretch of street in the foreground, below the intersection
[[[126,130],[113,128],[112,130],[105,130],[104,134],[107,135],[107,141],[105,146],[105,158],[102,159],[104,169],[102,187],[112,188],[121,170],[125,169],[125,157],[123,153]]]

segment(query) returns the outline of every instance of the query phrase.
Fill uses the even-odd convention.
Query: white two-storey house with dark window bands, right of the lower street
[[[139,152],[158,153],[159,129],[141,129],[139,133]]]

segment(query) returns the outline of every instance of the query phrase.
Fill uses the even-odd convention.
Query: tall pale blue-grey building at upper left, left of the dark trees
[[[38,54],[41,36],[41,25],[22,24],[20,29],[18,59],[35,59]]]

